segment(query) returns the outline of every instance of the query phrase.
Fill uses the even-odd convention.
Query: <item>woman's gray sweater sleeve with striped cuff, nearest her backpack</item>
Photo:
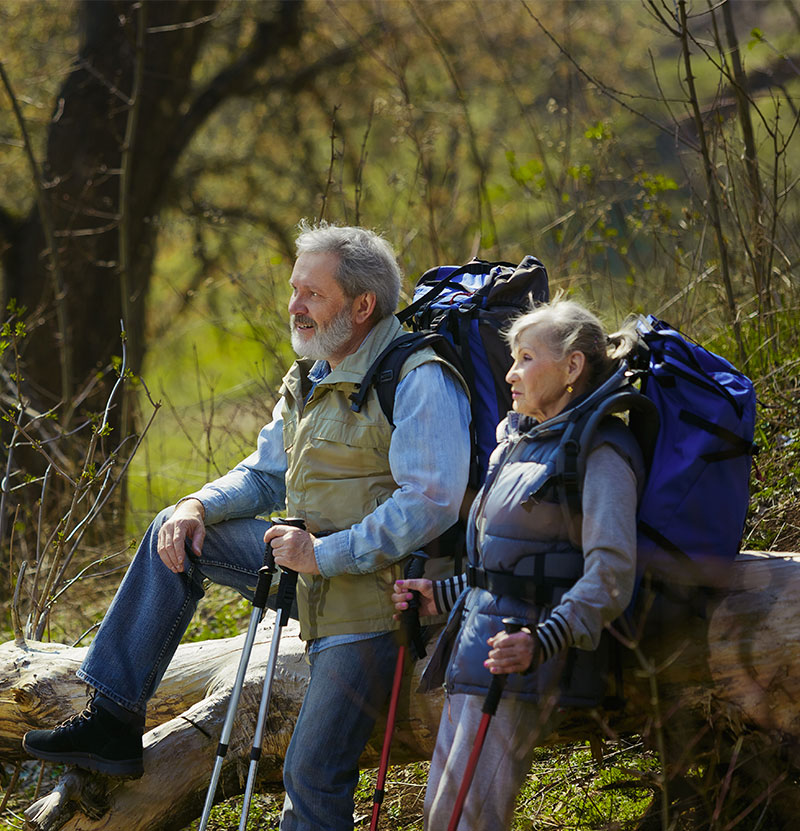
[[[629,462],[609,444],[586,461],[583,486],[584,572],[539,628],[545,657],[568,646],[596,649],[606,623],[619,617],[636,576],[638,483]]]

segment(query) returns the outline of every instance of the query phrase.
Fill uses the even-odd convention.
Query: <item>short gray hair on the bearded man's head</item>
[[[400,300],[402,275],[391,245],[374,231],[322,221],[298,225],[298,254],[336,254],[336,281],[345,296],[354,299],[364,292],[376,297],[375,318],[393,314]]]

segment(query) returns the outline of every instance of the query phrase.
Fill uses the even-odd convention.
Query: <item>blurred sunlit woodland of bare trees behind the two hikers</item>
[[[301,217],[386,233],[409,290],[533,252],[771,385],[794,452],[793,0],[3,0],[0,32],[4,599],[249,452]]]

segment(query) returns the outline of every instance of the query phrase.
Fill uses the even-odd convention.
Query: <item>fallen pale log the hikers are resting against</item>
[[[800,769],[800,673],[794,671],[800,663],[798,596],[800,554],[740,555],[727,589],[693,608],[677,604],[632,644],[625,661],[623,707],[569,712],[550,743],[644,734],[671,750],[665,767],[679,772],[696,762],[713,738],[726,794],[733,794],[741,781],[747,804],[778,805],[781,813],[795,818],[800,803],[792,784]],[[272,621],[268,613],[259,628],[218,798],[243,789]],[[109,787],[103,777],[68,771],[52,794],[26,811],[27,827],[178,831],[199,816],[241,645],[241,637],[182,645],[149,708],[144,777]],[[0,646],[4,760],[22,758],[20,740],[26,730],[82,709],[86,689],[74,670],[84,653],[58,644]],[[429,758],[433,748],[442,697],[413,692],[419,670],[402,694],[393,764]],[[259,765],[262,789],[280,787],[282,760],[306,683],[303,646],[290,624],[281,639]],[[364,767],[377,764],[379,728],[362,759]],[[751,754],[743,749],[745,740],[755,743]],[[665,774],[665,789],[669,780]]]

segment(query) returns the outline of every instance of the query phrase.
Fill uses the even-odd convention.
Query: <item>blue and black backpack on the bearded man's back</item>
[[[472,260],[442,265],[417,281],[412,302],[397,317],[410,327],[375,359],[351,396],[358,412],[375,387],[384,414],[393,424],[394,398],[406,358],[422,346],[433,347],[462,374],[470,391],[473,452],[470,487],[486,476],[489,455],[497,444],[497,425],[511,409],[505,376],[511,352],[502,336],[511,320],[532,302],[547,302],[547,271],[531,255],[518,266]]]

